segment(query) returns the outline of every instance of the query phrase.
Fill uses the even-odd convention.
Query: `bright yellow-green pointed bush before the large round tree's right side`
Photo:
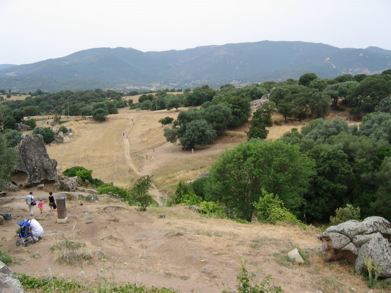
[[[267,193],[262,189],[262,196],[258,202],[253,203],[256,208],[258,220],[267,224],[295,223],[303,225],[296,216],[284,207],[278,195]]]

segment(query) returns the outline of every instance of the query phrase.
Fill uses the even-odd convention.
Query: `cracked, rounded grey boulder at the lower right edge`
[[[327,228],[321,238],[325,261],[347,259],[357,272],[365,272],[369,258],[381,268],[379,277],[391,277],[391,223],[385,218],[350,220]]]

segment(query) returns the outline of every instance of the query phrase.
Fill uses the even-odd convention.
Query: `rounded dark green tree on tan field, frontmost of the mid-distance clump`
[[[186,130],[179,141],[182,146],[194,148],[195,145],[209,145],[216,137],[216,130],[205,119],[199,119],[186,124]]]

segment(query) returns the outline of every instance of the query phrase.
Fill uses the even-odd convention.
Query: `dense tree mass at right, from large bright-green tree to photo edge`
[[[319,118],[274,142],[250,139],[225,151],[210,176],[192,187],[200,198],[223,204],[227,215],[247,221],[263,190],[307,223],[326,222],[346,205],[360,208],[363,217],[390,220],[390,133],[391,113],[366,115],[360,129]]]

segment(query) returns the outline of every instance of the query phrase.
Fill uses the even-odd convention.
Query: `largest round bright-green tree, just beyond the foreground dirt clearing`
[[[254,202],[264,188],[278,194],[288,209],[298,211],[313,164],[299,146],[250,140],[225,151],[213,164],[205,198],[225,204],[231,216],[251,221]]]

